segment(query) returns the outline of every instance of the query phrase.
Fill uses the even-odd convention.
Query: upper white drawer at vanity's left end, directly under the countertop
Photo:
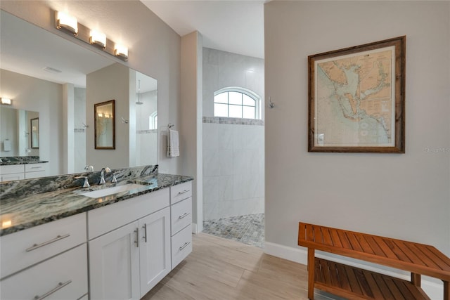
[[[0,237],[1,278],[83,242],[86,213],[4,235]]]

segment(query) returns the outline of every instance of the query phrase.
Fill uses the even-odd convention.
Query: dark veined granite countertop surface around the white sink
[[[2,197],[0,236],[192,180],[191,176],[152,174],[117,183],[91,185],[90,188],[65,188],[47,193],[30,193],[23,197]],[[142,187],[98,198],[81,195],[92,190],[111,188],[127,183],[138,183]]]

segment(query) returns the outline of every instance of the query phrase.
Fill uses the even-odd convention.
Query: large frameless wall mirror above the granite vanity
[[[0,96],[13,99],[11,107],[0,107],[0,142],[2,150],[6,138],[18,149],[2,151],[0,157],[39,156],[49,161],[49,176],[83,172],[87,164],[100,170],[106,166],[121,168],[158,163],[156,79],[128,69],[108,54],[79,46],[71,37],[65,39],[10,13],[0,13]],[[116,69],[127,72],[119,76],[111,72]],[[99,79],[95,84],[88,83],[89,77],[102,72],[115,80],[123,79],[122,94],[111,89],[111,79],[106,75],[100,84]],[[97,91],[90,91],[93,86]],[[103,87],[103,93],[110,94],[96,96],[99,87]],[[115,99],[116,149],[96,150],[92,103],[111,99]],[[15,110],[16,116],[20,115],[19,111],[22,115],[30,112],[23,123],[27,125],[14,122],[4,126],[3,114],[8,109]],[[33,118],[39,118],[39,135],[35,134],[31,140],[32,129],[28,127]],[[20,139],[25,140],[25,131],[29,133],[26,145],[19,144]],[[105,161],[96,163],[96,155]]]

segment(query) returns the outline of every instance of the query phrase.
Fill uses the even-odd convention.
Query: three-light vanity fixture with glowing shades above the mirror
[[[70,17],[66,13],[55,11],[55,25],[58,30],[63,30],[63,32],[73,34],[74,37],[80,41],[84,41],[86,44],[99,46],[103,51],[115,56],[116,58],[120,58],[124,61],[128,60],[127,47],[120,44],[115,44],[115,42],[108,39],[104,33],[99,32],[98,30],[91,30],[90,28],[78,23],[76,18],[70,17],[71,19],[69,18],[69,20],[71,20],[71,22],[64,21],[68,19],[61,19],[62,15]],[[65,22],[69,22],[69,25],[66,25]]]

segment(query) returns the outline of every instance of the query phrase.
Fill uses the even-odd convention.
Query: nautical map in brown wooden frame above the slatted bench
[[[309,152],[405,152],[406,37],[308,56]]]

